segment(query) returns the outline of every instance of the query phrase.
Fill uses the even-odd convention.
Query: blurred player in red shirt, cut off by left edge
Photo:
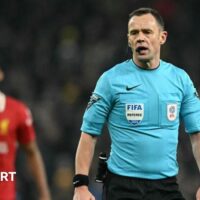
[[[0,67],[0,81],[4,72]],[[38,188],[39,200],[50,200],[43,160],[35,140],[30,110],[19,100],[0,91],[0,200],[16,200],[15,169],[18,145],[27,156],[28,166]],[[3,176],[13,173],[13,176]],[[5,175],[5,174],[4,174]],[[14,181],[11,179],[14,177]]]

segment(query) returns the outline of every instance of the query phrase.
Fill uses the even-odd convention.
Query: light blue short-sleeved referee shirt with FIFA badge
[[[187,133],[200,131],[200,100],[187,73],[162,60],[153,70],[127,60],[98,80],[81,130],[100,135],[107,123],[111,172],[160,179],[178,173],[180,119]]]

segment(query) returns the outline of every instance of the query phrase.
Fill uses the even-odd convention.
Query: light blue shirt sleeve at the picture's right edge
[[[184,82],[181,117],[185,125],[186,133],[192,134],[200,131],[200,99],[193,82],[187,74]]]

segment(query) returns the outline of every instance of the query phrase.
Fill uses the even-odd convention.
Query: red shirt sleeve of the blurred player
[[[29,108],[24,104],[20,104],[18,109],[17,139],[19,143],[27,144],[35,139],[32,115]]]

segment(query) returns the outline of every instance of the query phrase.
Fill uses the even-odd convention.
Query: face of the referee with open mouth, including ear
[[[128,23],[128,43],[137,62],[160,59],[160,46],[165,43],[167,32],[151,14],[133,16]]]

